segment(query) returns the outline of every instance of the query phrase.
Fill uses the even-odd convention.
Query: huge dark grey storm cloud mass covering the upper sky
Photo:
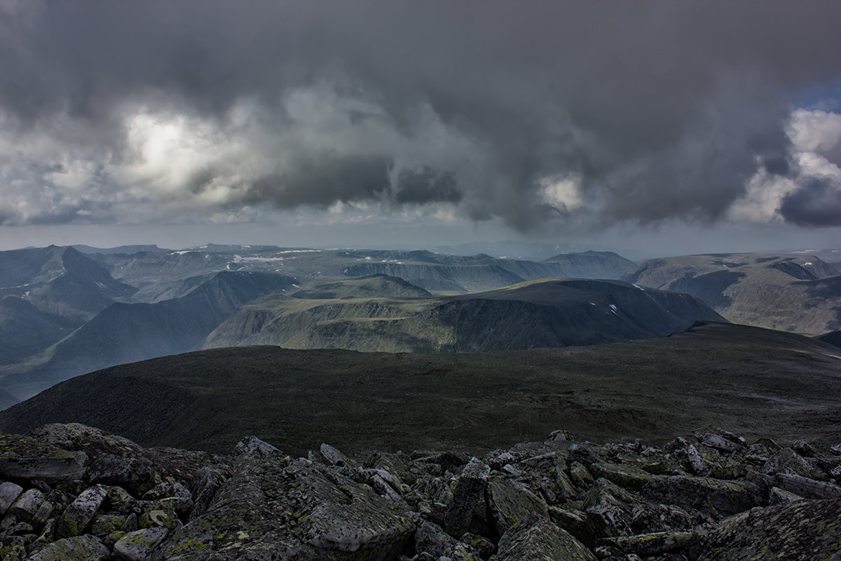
[[[717,220],[759,167],[793,173],[789,103],[841,76],[834,0],[2,5],[13,139],[40,146],[31,135],[71,119],[87,124],[71,151],[119,167],[140,157],[127,108],[217,124],[222,140],[243,100],[268,115],[237,137],[259,163],[185,172],[185,193],[225,183],[226,205],[444,201],[522,230],[576,212]],[[586,204],[547,198],[556,176]],[[825,193],[791,200],[810,197]]]

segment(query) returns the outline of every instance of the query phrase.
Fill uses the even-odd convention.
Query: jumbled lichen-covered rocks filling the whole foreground
[[[327,444],[291,458],[0,435],[0,559],[841,559],[841,444],[696,432],[662,448],[556,431],[484,458]]]

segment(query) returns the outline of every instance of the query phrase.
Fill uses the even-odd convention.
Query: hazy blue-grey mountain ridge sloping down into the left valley
[[[217,273],[181,298],[112,304],[47,349],[40,362],[7,368],[3,387],[29,396],[97,368],[196,349],[242,304],[294,281],[270,273]]]

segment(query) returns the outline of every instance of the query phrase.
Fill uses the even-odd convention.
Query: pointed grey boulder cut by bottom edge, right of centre
[[[490,561],[596,561],[584,544],[542,516],[525,516],[502,537]]]

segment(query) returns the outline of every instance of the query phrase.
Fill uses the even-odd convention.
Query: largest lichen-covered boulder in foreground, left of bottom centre
[[[209,510],[173,532],[154,558],[396,558],[417,524],[331,466],[244,456]]]

